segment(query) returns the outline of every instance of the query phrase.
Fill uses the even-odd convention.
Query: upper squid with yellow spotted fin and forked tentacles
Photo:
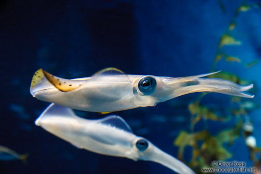
[[[92,112],[113,112],[155,106],[195,92],[254,97],[245,93],[253,87],[253,84],[240,86],[228,80],[200,78],[214,73],[217,72],[172,78],[127,75],[121,70],[107,68],[91,77],[69,80],[39,69],[33,75],[30,92],[33,97],[45,102]]]

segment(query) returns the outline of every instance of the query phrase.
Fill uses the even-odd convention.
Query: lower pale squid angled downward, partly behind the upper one
[[[70,108],[50,104],[35,120],[35,125],[78,148],[134,161],[153,161],[179,174],[195,174],[184,163],[163,152],[149,140],[135,136],[120,116],[88,120],[76,116]]]

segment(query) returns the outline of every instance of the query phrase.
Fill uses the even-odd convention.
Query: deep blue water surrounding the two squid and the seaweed
[[[33,73],[39,69],[64,78],[90,76],[106,67],[127,74],[188,76],[207,73],[241,0],[2,0],[0,1],[1,115],[0,144],[29,153],[28,164],[0,161],[0,174],[172,174],[161,165],[103,156],[77,149],[40,127],[34,120],[48,106],[29,92]],[[249,0],[249,4],[261,3]],[[229,55],[250,63],[261,59],[261,8],[253,7],[236,18],[233,36],[240,46],[226,46]],[[224,60],[216,70],[233,73],[254,83],[260,104],[261,63],[245,68]],[[163,151],[177,156],[173,140],[190,130],[190,94],[158,104],[116,112]],[[205,103],[226,110],[229,97],[206,96]],[[90,119],[103,115],[77,112]],[[261,146],[261,110],[249,112],[253,135]],[[216,126],[217,134],[232,123]],[[243,138],[230,148],[232,160],[251,167]],[[191,154],[185,153],[186,159]]]

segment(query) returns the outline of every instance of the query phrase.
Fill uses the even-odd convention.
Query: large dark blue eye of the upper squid
[[[145,95],[152,94],[156,89],[157,82],[155,78],[147,76],[139,80],[138,88]]]

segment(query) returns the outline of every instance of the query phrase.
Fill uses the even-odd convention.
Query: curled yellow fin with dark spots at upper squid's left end
[[[57,76],[54,76],[45,70],[39,69],[37,70],[32,79],[31,83],[31,93],[35,87],[40,85],[41,83],[44,83],[46,79],[55,86],[58,90],[62,92],[68,92],[71,90],[74,90],[82,85],[83,82],[86,80],[69,80],[65,78],[60,78]],[[45,82],[46,83],[46,82]],[[43,89],[42,89],[43,90]]]

